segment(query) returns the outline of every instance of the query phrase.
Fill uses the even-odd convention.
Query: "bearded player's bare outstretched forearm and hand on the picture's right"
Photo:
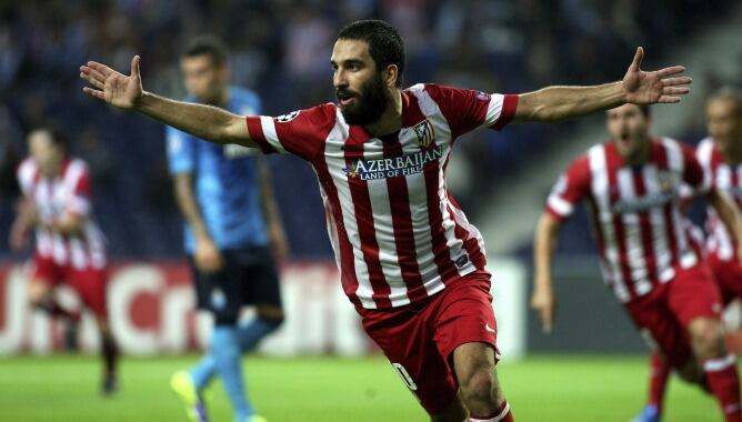
[[[653,104],[680,102],[690,92],[685,71],[673,66],[658,71],[640,69],[644,50],[636,49],[623,80],[594,87],[550,87],[520,96],[513,122],[556,122],[578,118],[625,103]]]

